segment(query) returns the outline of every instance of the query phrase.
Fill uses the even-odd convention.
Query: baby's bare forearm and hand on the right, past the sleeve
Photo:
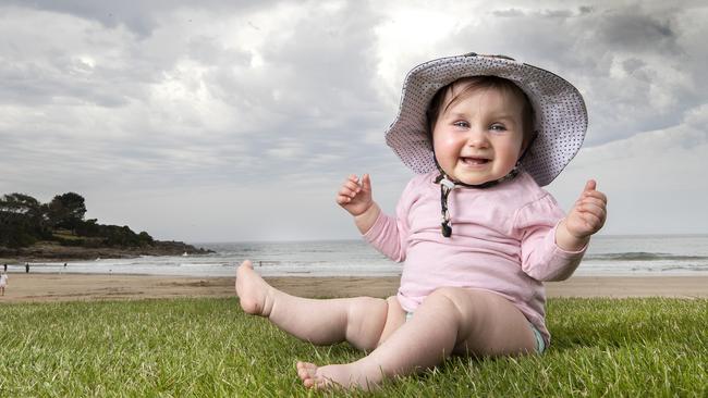
[[[607,219],[607,197],[596,190],[594,179],[585,184],[585,189],[575,206],[556,229],[556,244],[563,250],[577,251],[590,240],[590,235],[600,231]]]

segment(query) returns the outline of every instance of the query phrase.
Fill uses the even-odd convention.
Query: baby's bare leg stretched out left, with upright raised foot
[[[246,313],[266,316],[283,331],[316,345],[346,340],[371,350],[378,345],[388,313],[383,299],[315,300],[288,295],[268,285],[247,260],[236,271],[236,294]]]

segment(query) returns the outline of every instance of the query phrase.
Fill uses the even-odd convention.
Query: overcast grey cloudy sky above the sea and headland
[[[356,238],[334,202],[412,176],[383,141],[414,65],[475,51],[585,96],[603,234],[708,233],[703,1],[0,1],[0,194],[193,242]]]

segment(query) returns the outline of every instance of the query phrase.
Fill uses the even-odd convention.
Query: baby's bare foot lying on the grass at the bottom
[[[373,389],[381,381],[380,373],[366,377],[357,371],[356,363],[317,366],[309,362],[297,362],[297,376],[308,388],[362,388]]]

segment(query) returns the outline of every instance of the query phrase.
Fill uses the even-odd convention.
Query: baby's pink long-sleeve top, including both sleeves
[[[542,281],[571,276],[585,249],[556,245],[564,213],[527,173],[491,188],[455,188],[448,198],[452,236],[440,233],[438,173],[417,175],[404,189],[396,216],[380,213],[364,234],[375,248],[402,262],[398,299],[408,312],[440,287],[484,289],[509,299],[548,345]]]

